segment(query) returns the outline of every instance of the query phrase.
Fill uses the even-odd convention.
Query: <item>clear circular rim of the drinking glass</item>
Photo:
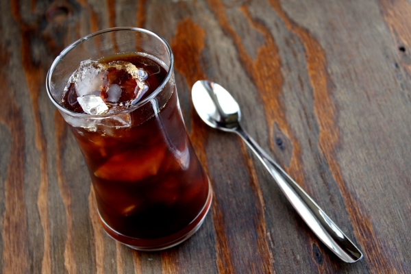
[[[82,44],[82,42],[85,42],[86,40],[89,40],[90,38],[94,38],[95,36],[99,36],[100,34],[105,34],[109,32],[116,32],[116,31],[134,31],[134,32],[142,32],[145,34],[149,34],[150,36],[153,36],[157,38],[160,42],[162,42],[165,46],[167,51],[169,51],[170,55],[170,65],[169,65],[169,70],[167,71],[166,77],[153,92],[151,92],[151,95],[146,97],[145,99],[142,99],[141,101],[138,101],[134,105],[130,105],[128,108],[125,108],[124,110],[120,110],[119,112],[114,112],[114,113],[105,113],[105,114],[86,114],[86,113],[79,113],[79,112],[73,112],[73,110],[68,110],[64,108],[60,102],[56,101],[56,99],[53,97],[53,94],[51,93],[51,75],[53,75],[53,71],[55,67],[58,65],[58,63],[62,60],[62,58],[69,53],[71,50],[73,50],[77,45]],[[79,38],[75,42],[72,42],[69,46],[67,46],[65,49],[63,49],[60,54],[53,60],[53,63],[50,66],[49,71],[47,72],[47,77],[46,77],[46,90],[47,90],[47,95],[49,95],[49,98],[51,99],[51,102],[58,108],[58,110],[70,114],[71,116],[77,116],[79,118],[86,118],[86,119],[101,119],[105,117],[111,117],[117,114],[125,113],[125,112],[131,112],[133,110],[136,110],[137,108],[140,108],[142,105],[145,105],[148,101],[151,101],[154,99],[158,93],[160,93],[161,90],[164,89],[164,86],[169,82],[171,75],[173,74],[173,67],[174,67],[174,56],[173,56],[173,51],[171,51],[171,47],[169,43],[162,38],[161,36],[158,36],[158,34],[155,34],[154,32],[151,32],[148,29],[142,29],[140,27],[111,27],[108,29],[101,29],[97,32],[92,32],[91,34],[88,34],[82,38]]]

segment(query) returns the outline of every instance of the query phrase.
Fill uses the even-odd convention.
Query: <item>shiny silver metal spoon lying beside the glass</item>
[[[288,201],[312,232],[344,262],[357,262],[362,253],[329,219],[310,196],[267,155],[240,125],[240,107],[225,88],[207,80],[192,86],[192,103],[201,119],[210,127],[238,134],[271,173]]]

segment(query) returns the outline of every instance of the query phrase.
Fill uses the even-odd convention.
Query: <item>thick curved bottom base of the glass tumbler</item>
[[[99,213],[99,219],[101,225],[105,232],[113,238],[114,240],[121,242],[123,245],[127,247],[131,247],[132,249],[136,249],[139,251],[158,251],[162,249],[168,249],[170,247],[174,247],[179,245],[180,243],[184,242],[190,238],[203,224],[204,219],[206,219],[206,215],[208,210],[210,210],[211,202],[212,202],[212,188],[210,182],[208,183],[209,190],[208,190],[208,197],[206,203],[201,210],[201,212],[195,217],[195,219],[184,229],[176,232],[175,234],[171,234],[169,236],[165,236],[162,238],[154,238],[154,239],[144,239],[144,238],[131,238],[116,232],[112,229],[105,221],[101,218]]]

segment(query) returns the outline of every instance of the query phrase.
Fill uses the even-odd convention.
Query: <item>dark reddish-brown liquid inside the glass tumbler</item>
[[[148,58],[128,55],[121,60],[149,72],[149,91],[145,96],[166,77],[162,66]],[[108,73],[113,82],[129,85],[124,73]],[[208,177],[188,140],[177,90],[172,87],[164,108],[143,123],[115,129],[110,134],[72,127],[90,170],[103,226],[115,231],[109,232],[111,236],[129,245],[145,245],[144,239],[178,234],[188,225],[196,225],[193,220],[208,210],[201,211],[209,195]],[[104,96],[101,90],[101,97]],[[77,95],[71,85],[64,94],[64,106],[82,112],[74,97]],[[132,121],[139,121],[139,116],[139,109],[131,112]],[[123,236],[141,241],[127,242]],[[155,242],[163,244],[166,243]]]

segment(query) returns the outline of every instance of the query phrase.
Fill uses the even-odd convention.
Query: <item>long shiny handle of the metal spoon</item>
[[[284,192],[292,207],[297,210],[301,218],[310,227],[312,232],[344,262],[357,262],[362,253],[337,225],[329,219],[327,214],[312,200],[310,196],[267,155],[251,136],[242,127],[236,129],[251,150],[256,153],[266,169],[271,173],[279,188]]]

